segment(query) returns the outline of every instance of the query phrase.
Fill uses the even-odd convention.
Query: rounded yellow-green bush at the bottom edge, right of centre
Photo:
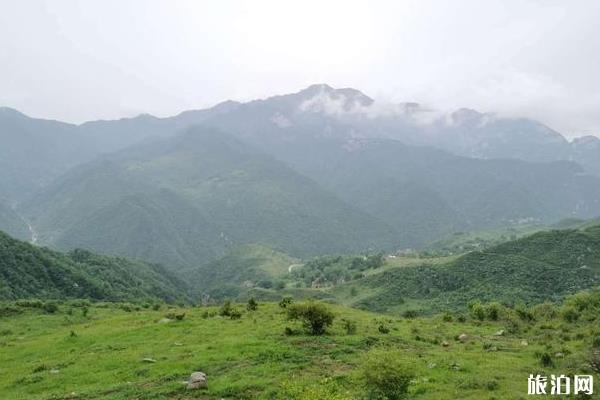
[[[374,350],[365,357],[361,368],[364,386],[370,399],[403,399],[414,378],[414,367],[402,361],[398,351]]]

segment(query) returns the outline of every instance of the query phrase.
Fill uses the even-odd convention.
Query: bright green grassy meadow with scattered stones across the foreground
[[[330,305],[334,324],[310,336],[275,303],[236,307],[237,320],[219,316],[218,307],[99,304],[85,316],[64,304],[53,314],[14,308],[21,313],[0,318],[0,398],[361,399],[364,358],[383,349],[413,365],[412,398],[524,399],[530,373],[589,373],[586,354],[600,332],[581,319],[507,327],[506,320],[407,319]],[[183,313],[180,321],[165,317]],[[356,323],[354,334],[343,319]],[[285,335],[286,326],[296,333]],[[552,366],[540,363],[543,353]],[[197,370],[208,375],[208,389],[186,390]]]

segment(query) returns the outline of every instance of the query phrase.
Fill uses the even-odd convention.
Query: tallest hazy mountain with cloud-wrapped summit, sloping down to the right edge
[[[600,214],[600,180],[573,162],[467,158],[407,145],[385,137],[393,136],[390,132],[396,137],[412,132],[415,138],[424,133],[411,131],[396,114],[372,116],[370,107],[372,100],[360,92],[315,85],[238,105],[205,123],[387,221],[399,232],[398,246],[421,247],[456,230]],[[406,114],[416,106],[403,107]],[[404,121],[408,131],[389,130],[398,128],[396,121]],[[499,123],[497,130],[503,126]],[[560,135],[554,136],[561,142]]]

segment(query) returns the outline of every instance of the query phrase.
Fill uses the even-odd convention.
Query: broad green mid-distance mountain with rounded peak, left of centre
[[[262,243],[296,256],[391,247],[394,231],[213,128],[73,169],[22,206],[41,243],[167,266]]]

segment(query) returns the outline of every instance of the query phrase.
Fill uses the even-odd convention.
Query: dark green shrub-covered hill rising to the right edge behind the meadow
[[[600,284],[600,225],[538,232],[441,266],[396,268],[361,282],[376,294],[359,306],[423,311],[464,308],[470,301],[541,303]]]

